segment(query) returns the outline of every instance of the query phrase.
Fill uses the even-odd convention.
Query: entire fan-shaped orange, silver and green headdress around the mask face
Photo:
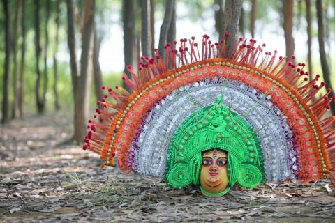
[[[218,148],[228,152],[230,185],[334,180],[335,117],[325,114],[335,98],[328,89],[312,100],[325,86],[319,75],[308,79],[304,63],[253,39],[230,53],[207,35],[201,49],[195,38],[180,42],[165,46],[165,60],[158,50],[142,57],[137,74],[128,66],[128,90],[103,87],[84,139],[102,167],[185,187],[199,183],[202,151]]]

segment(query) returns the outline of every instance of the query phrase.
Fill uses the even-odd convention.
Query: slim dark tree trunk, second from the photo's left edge
[[[20,118],[23,118],[23,106],[24,106],[24,64],[25,64],[25,54],[26,54],[26,11],[25,11],[25,3],[22,1],[22,15],[21,15],[21,35],[22,35],[22,45],[21,45],[21,65],[20,65],[20,87],[19,87],[19,110],[20,110]]]

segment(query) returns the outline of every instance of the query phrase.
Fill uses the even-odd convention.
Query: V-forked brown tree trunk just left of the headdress
[[[77,68],[75,54],[75,15],[73,0],[67,0],[68,9],[68,48],[70,50],[71,77],[73,80],[73,95],[75,100],[75,135],[78,144],[84,139],[86,121],[89,116],[89,59],[93,49],[94,10],[95,1],[87,0],[82,21],[82,54],[80,56],[80,70]]]

